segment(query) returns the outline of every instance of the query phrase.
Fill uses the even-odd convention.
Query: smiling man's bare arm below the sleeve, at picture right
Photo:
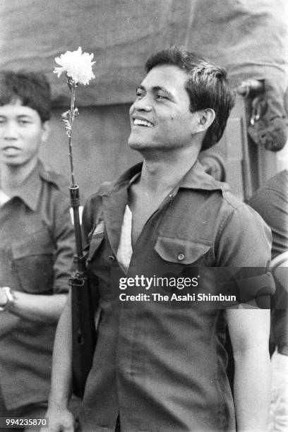
[[[227,310],[235,361],[237,431],[267,431],[270,405],[269,309]]]

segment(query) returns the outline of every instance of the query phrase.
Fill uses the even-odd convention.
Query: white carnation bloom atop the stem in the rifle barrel
[[[55,61],[59,66],[55,66],[54,73],[58,78],[62,72],[65,72],[76,84],[88,84],[92,78],[95,78],[92,72],[92,66],[95,61],[92,61],[94,54],[83,52],[79,47],[77,51],[67,51],[65,54],[56,57]]]

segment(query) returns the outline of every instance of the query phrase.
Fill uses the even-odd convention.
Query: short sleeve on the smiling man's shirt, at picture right
[[[270,228],[248,205],[234,208],[222,221],[217,242],[217,265],[229,269],[232,279],[226,289],[236,291],[241,302],[256,299],[259,307],[270,307],[270,301],[265,301],[265,298],[275,292],[275,283],[269,272],[271,244]]]

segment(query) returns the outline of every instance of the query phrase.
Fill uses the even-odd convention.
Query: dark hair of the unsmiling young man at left
[[[44,73],[0,72],[0,106],[16,100],[35,109],[42,123],[51,116],[51,91]]]

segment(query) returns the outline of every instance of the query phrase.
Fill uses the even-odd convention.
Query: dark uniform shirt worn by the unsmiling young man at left
[[[13,197],[1,196],[0,286],[67,292],[74,249],[68,183],[38,162]],[[0,393],[7,409],[47,400],[55,330],[0,313]]]

